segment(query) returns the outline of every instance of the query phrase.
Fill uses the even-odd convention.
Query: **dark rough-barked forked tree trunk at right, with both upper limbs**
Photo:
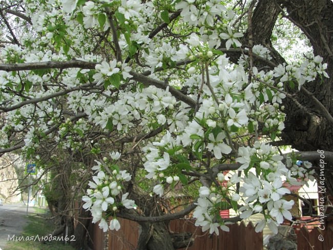
[[[273,48],[272,31],[274,29],[279,13],[285,10],[287,18],[298,26],[310,40],[315,55],[323,57],[327,63],[326,72],[333,72],[333,4],[330,0],[259,0],[252,16],[253,45],[261,44],[270,50],[272,61],[275,64],[285,62],[284,58]],[[243,47],[248,47],[249,34],[245,32],[242,41]],[[223,46],[223,45],[222,45]],[[237,63],[239,54],[227,53],[230,59]],[[261,68],[261,62],[254,61],[255,66]],[[332,83],[333,76],[323,80],[317,77],[304,87],[315,96],[326,110],[333,114],[332,107]],[[294,98],[304,107],[300,109],[290,98],[283,100],[285,129],[282,131],[282,142],[284,145],[292,145],[299,151],[333,151],[333,124],[323,115],[311,99],[311,96],[304,91],[296,92],[287,88],[287,91],[294,94]],[[333,163],[326,162],[325,185],[328,194],[333,194]],[[319,175],[319,164],[315,168]]]

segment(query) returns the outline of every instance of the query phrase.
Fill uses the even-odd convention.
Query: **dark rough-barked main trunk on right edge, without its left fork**
[[[286,8],[287,18],[297,25],[310,40],[315,55],[320,55],[327,63],[327,73],[333,72],[333,4],[326,0],[292,0],[277,1]],[[333,78],[317,79],[304,87],[311,92],[332,114]],[[307,108],[298,109],[295,103],[286,99],[284,105],[287,114],[283,139],[300,151],[333,149],[333,124],[324,118],[314,102],[304,92],[297,93],[296,98]],[[325,184],[328,193],[333,193],[333,162],[327,162]],[[319,171],[319,168],[318,168]]]

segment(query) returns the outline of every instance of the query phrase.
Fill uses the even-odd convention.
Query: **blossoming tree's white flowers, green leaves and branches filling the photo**
[[[119,217],[144,226],[192,213],[202,231],[218,234],[261,213],[256,231],[268,225],[277,233],[292,219],[283,182],[301,185],[315,173],[310,162],[296,164],[306,153],[283,155],[274,146],[284,129],[282,102],[301,106],[289,92],[328,78],[327,65],[311,53],[277,64],[253,44],[256,1],[246,12],[233,4],[8,3],[1,10],[10,42],[0,50],[0,152],[20,150],[45,169],[61,154],[89,154],[90,164],[71,164],[90,174],[83,208],[103,231],[119,230]],[[144,197],[158,213],[140,205],[140,182],[149,183]],[[198,196],[179,212],[163,212],[156,201],[179,186]],[[226,209],[237,216],[222,219]]]

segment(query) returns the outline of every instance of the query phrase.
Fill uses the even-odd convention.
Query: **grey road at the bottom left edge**
[[[27,207],[23,203],[0,206],[0,249],[6,246],[8,236],[21,235],[27,223],[26,213]]]

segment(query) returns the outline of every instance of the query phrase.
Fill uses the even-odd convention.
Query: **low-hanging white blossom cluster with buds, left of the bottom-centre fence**
[[[112,160],[117,160],[120,157],[118,152],[112,152],[110,154]],[[105,159],[107,160],[107,159]],[[106,232],[108,228],[110,230],[118,231],[120,228],[119,221],[115,218],[115,213],[121,208],[133,209],[135,207],[134,200],[127,199],[129,193],[122,193],[123,182],[131,180],[131,175],[126,170],[114,169],[111,174],[105,173],[104,166],[101,162],[96,161],[97,165],[93,166],[95,175],[93,181],[89,181],[90,189],[87,190],[87,195],[82,197],[85,204],[82,206],[84,209],[90,210],[93,216],[93,223],[99,222],[99,227],[103,232]],[[107,223],[107,219],[110,216],[114,216],[114,219],[110,221],[110,225]]]

